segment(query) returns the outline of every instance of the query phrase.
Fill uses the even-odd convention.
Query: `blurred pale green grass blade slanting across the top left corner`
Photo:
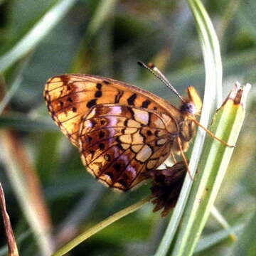
[[[17,60],[20,60],[24,55],[28,54],[44,36],[60,21],[68,10],[75,4],[77,0],[62,0],[58,1],[33,28],[21,38],[14,48],[11,48],[0,58],[0,72],[4,72],[7,68],[13,65]]]

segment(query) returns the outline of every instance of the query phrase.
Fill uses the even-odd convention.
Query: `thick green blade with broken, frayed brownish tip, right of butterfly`
[[[229,144],[235,144],[238,139],[245,118],[244,105],[249,90],[250,85],[246,85],[244,90],[240,90],[238,85],[235,85],[228,99],[215,114],[211,130],[218,138]],[[206,139],[206,147],[198,165],[199,176],[193,183],[171,255],[193,254],[232,153],[232,148],[211,137]]]

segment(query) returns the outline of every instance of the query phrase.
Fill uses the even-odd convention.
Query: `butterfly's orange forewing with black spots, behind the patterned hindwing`
[[[95,75],[58,75],[50,78],[44,96],[55,124],[75,146],[78,146],[82,118],[96,105],[114,103],[155,110],[172,117],[180,114],[169,102],[146,90]]]

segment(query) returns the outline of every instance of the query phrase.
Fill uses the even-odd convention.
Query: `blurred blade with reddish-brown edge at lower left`
[[[49,233],[51,224],[47,208],[40,193],[41,191],[39,190],[40,185],[36,179],[37,177],[31,175],[33,174],[33,166],[27,161],[26,151],[12,132],[2,130],[0,142],[2,146],[1,159],[3,159],[6,175],[9,177],[17,201],[35,236],[39,248],[38,253],[42,256],[48,256],[53,250]],[[21,164],[21,161],[23,164]],[[33,183],[28,182],[28,175],[26,176],[25,171],[26,174],[30,174],[29,178]],[[31,185],[33,185],[33,190]]]

